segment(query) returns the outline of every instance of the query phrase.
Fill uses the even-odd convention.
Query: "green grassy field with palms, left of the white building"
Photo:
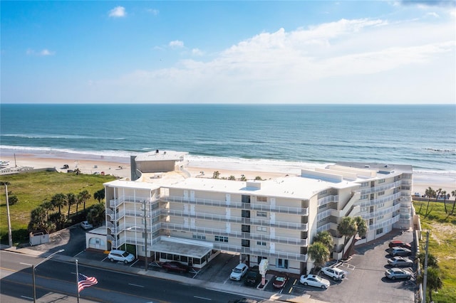
[[[0,176],[0,181],[8,181],[9,196],[19,198],[19,202],[9,207],[13,243],[28,242],[27,225],[30,221],[31,211],[38,207],[44,200],[51,200],[56,193],[75,193],[83,190],[90,193],[90,200],[86,208],[98,203],[93,198],[93,193],[103,189],[103,183],[114,180],[114,176],[100,176],[88,174],[66,174],[55,171],[40,171],[26,174],[13,174]],[[8,243],[8,222],[6,217],[5,188],[0,189],[0,237],[1,243]],[[81,212],[83,206],[79,206]],[[58,212],[58,210],[56,210]],[[68,213],[68,207],[62,209],[63,214]],[[71,207],[70,213],[76,213],[76,206]]]

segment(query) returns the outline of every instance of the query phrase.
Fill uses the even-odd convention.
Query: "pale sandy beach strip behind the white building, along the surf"
[[[31,166],[34,169],[55,168],[57,171],[66,172],[68,169],[79,169],[82,174],[110,174],[118,178],[130,178],[130,159],[125,157],[104,157],[84,154],[66,154],[64,157],[53,154],[1,154],[1,161],[9,161],[8,167]],[[68,165],[68,169],[64,165]],[[287,164],[287,163],[286,163]],[[212,161],[205,162],[198,159],[190,159],[186,170],[192,176],[204,176],[212,178],[214,171],[219,171],[220,178],[234,176],[236,179],[245,176],[247,179],[271,179],[279,176],[297,176],[301,168],[310,169],[311,167],[300,166],[268,166],[261,164],[261,160],[252,161],[245,164],[233,161]],[[318,166],[318,165],[316,165]],[[321,166],[320,166],[321,167]],[[456,190],[456,174],[415,172],[413,174],[413,193],[423,195],[426,188],[442,188],[443,191],[451,193]]]

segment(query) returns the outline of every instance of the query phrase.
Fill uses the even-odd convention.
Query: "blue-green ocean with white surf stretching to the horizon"
[[[456,171],[456,105],[0,105],[4,154],[337,161]],[[1,155],[0,155],[1,156]]]

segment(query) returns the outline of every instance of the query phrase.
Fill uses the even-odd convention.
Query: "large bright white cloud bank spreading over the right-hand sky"
[[[454,102],[454,37],[452,21],[341,19],[260,33],[213,60],[136,70],[98,87],[104,87],[99,93],[105,99],[116,99],[127,88],[136,102],[418,104],[435,100],[435,92],[439,102]]]

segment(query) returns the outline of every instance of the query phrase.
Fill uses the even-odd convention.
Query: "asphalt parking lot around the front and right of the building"
[[[413,280],[396,280],[392,281],[385,277],[385,270],[390,268],[388,265],[388,243],[390,240],[403,240],[413,242],[413,233],[405,231],[400,233],[390,233],[382,238],[369,243],[368,245],[356,246],[354,254],[348,262],[343,262],[339,268],[347,272],[346,278],[342,281],[333,281],[330,277],[324,278],[331,282],[328,289],[320,289],[301,285],[299,275],[290,275],[289,281],[283,289],[274,289],[271,281],[274,279],[274,272],[269,271],[266,274],[267,284],[264,287],[266,292],[276,292],[301,296],[310,295],[313,299],[324,302],[414,302],[415,285]],[[84,258],[91,262],[99,261],[109,263],[114,270],[125,269],[125,267],[137,267],[144,269],[144,260],[135,260],[130,264],[123,262],[110,262],[108,255],[103,252],[85,250],[84,230],[79,227],[62,230],[58,234],[53,234],[51,242],[44,245],[32,247],[33,250],[53,252],[54,250],[65,249],[62,254],[71,257]],[[410,258],[413,258],[411,256]],[[221,253],[212,260],[209,265],[199,272],[176,273],[167,272],[157,266],[155,262],[149,260],[148,270],[167,273],[170,279],[179,280],[179,276],[185,276],[196,280],[215,282],[226,287],[227,291],[233,287],[245,287],[244,282],[229,279],[232,269],[239,264],[239,255]]]

